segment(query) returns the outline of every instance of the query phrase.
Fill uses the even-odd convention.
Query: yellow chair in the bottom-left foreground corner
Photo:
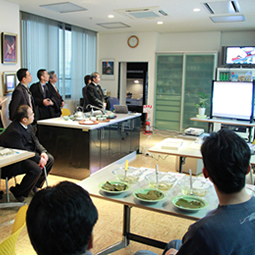
[[[23,227],[26,225],[26,212],[28,205],[20,207],[12,227],[12,233],[2,243],[0,243],[1,255],[15,255],[15,245],[19,234]]]

